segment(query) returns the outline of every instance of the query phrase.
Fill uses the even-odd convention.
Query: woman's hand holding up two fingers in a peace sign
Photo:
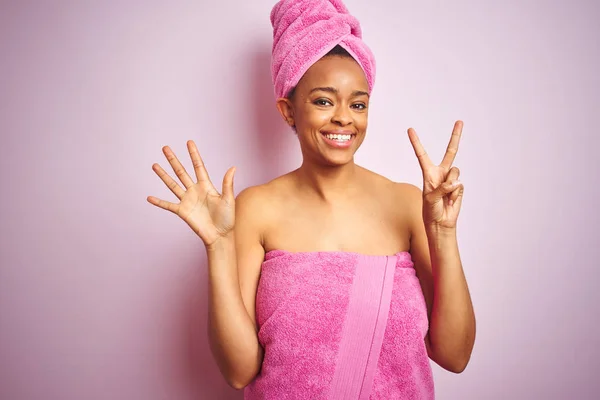
[[[408,137],[423,171],[423,222],[425,226],[443,229],[456,228],[464,187],[458,180],[460,171],[457,167],[453,167],[452,163],[458,152],[462,127],[462,121],[456,121],[450,143],[440,165],[431,162],[415,130],[408,129]]]

